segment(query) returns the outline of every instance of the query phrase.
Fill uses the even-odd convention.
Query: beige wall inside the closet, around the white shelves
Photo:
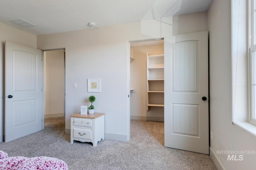
[[[164,121],[164,107],[150,107],[147,111],[147,53],[164,54],[164,41],[130,43],[130,119]]]

